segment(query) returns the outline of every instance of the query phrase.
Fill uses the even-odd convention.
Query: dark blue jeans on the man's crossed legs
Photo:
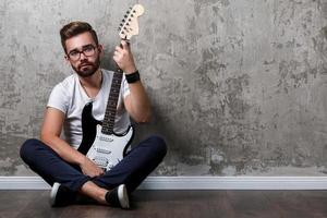
[[[167,147],[159,136],[152,136],[133,147],[131,152],[110,171],[90,178],[82,173],[78,166],[64,161],[55,150],[38,140],[27,140],[21,147],[21,157],[29,168],[49,185],[55,182],[78,191],[87,181],[107,190],[125,184],[129,193],[162,161]]]

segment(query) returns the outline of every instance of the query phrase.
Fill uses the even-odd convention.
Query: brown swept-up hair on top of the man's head
[[[96,45],[99,44],[96,32],[93,29],[93,27],[88,23],[75,21],[75,22],[71,22],[71,23],[64,25],[60,29],[61,45],[64,49],[64,52],[66,52],[65,40],[72,38],[76,35],[83,34],[85,32],[90,33]]]

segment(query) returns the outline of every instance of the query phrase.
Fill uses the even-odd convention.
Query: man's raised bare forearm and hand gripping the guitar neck
[[[130,46],[122,40],[122,48],[117,46],[113,60],[125,72],[131,74],[136,71]],[[152,107],[141,81],[129,84],[131,94],[124,98],[124,105],[130,116],[138,123],[149,122]]]

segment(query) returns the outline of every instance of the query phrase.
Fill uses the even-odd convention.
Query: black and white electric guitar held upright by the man
[[[144,13],[141,4],[135,4],[124,15],[120,24],[119,36],[129,41],[132,36],[138,35],[137,17]],[[107,102],[104,121],[96,120],[92,114],[93,104],[88,102],[82,111],[82,143],[78,152],[86,155],[105,171],[114,167],[125,155],[134,136],[134,129],[130,125],[124,133],[113,132],[117,104],[121,88],[123,72],[118,68],[113,73],[110,94]]]

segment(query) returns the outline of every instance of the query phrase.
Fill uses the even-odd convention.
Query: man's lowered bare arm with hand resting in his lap
[[[64,113],[55,108],[47,108],[40,140],[51,147],[62,159],[70,164],[78,165],[84,174],[89,177],[99,175],[102,172],[92,160],[78,150],[71,147],[65,141],[60,138],[60,133],[64,122]]]

